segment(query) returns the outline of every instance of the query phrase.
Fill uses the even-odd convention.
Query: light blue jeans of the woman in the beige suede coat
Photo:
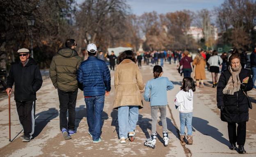
[[[127,138],[128,132],[136,128],[139,119],[139,106],[119,106],[118,107],[118,126],[119,138]]]

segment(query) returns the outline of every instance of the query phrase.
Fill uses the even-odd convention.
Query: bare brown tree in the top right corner
[[[217,24],[222,31],[222,41],[237,49],[251,49],[256,43],[256,1],[225,0],[217,7]]]

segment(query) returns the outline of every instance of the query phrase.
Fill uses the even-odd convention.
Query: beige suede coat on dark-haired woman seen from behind
[[[116,95],[113,108],[119,106],[139,106],[143,108],[140,92],[144,91],[144,83],[139,67],[132,60],[123,60],[114,74]]]

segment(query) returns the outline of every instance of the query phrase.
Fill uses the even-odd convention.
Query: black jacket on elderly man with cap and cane
[[[12,64],[7,77],[7,88],[14,88],[14,100],[16,101],[34,101],[37,100],[36,92],[43,83],[42,76],[33,58],[25,66],[21,61]]]

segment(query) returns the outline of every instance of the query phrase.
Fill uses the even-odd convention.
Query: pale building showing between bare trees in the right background
[[[211,33],[212,33],[214,40],[217,40],[218,39],[217,27],[211,26]],[[194,26],[190,27],[190,29],[187,31],[187,34],[191,35],[192,38],[194,38],[194,40],[196,40],[196,41],[200,41],[202,38],[204,38],[203,29],[199,28],[199,27],[194,27]]]

